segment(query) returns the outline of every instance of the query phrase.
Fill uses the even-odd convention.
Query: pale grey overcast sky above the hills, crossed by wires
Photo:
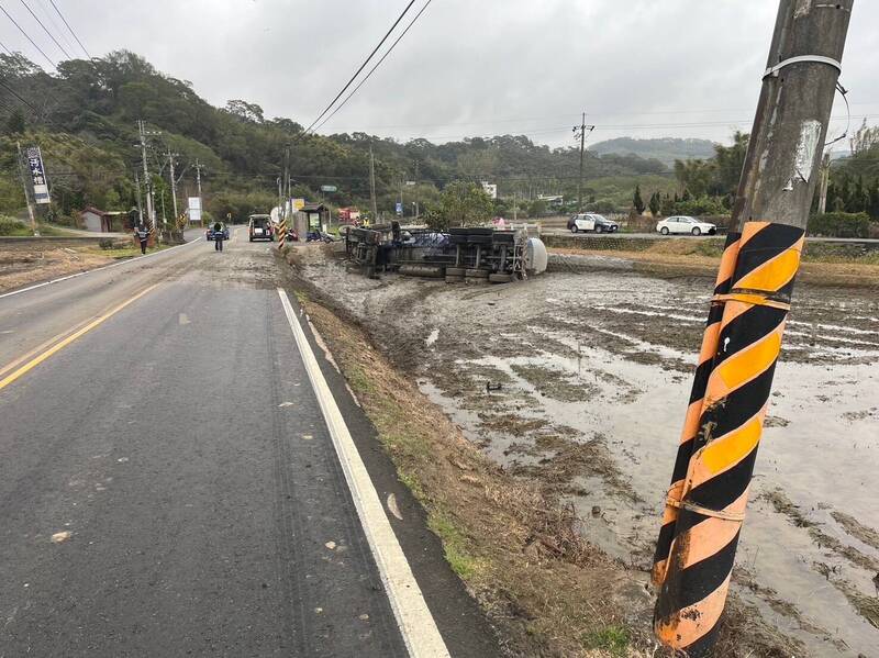
[[[423,5],[415,0],[409,16]],[[49,0],[29,0],[76,52]],[[55,0],[92,56],[134,51],[216,105],[246,99],[309,125],[407,0]],[[2,5],[53,59],[20,0]],[[749,130],[774,0],[433,0],[385,64],[321,132],[443,142],[526,134],[571,144],[580,112],[615,137],[726,141]],[[52,19],[52,20],[49,20]],[[879,2],[858,0],[842,82],[853,123],[879,123]],[[399,30],[398,29],[398,30]],[[0,41],[48,68],[0,14]],[[389,40],[388,43],[390,43]],[[368,68],[367,68],[368,70]],[[872,75],[871,75],[872,74]],[[832,127],[845,129],[837,102]]]

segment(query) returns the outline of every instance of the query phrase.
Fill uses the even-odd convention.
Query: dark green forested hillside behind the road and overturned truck
[[[370,145],[380,209],[392,208],[401,180],[416,179],[418,194],[427,201],[437,188],[459,178],[496,181],[501,194],[572,196],[576,190],[579,154],[574,146],[550,149],[515,135],[441,145],[425,140],[401,144],[364,133],[303,136],[301,123],[267,118],[255,103],[231,100],[214,108],[190,82],[124,51],[62,63],[57,75],[21,55],[0,55],[0,213],[23,207],[14,156],[19,140],[43,148],[58,214],[69,215],[86,204],[131,208],[141,119],[151,131],[160,131],[151,138],[152,171],[167,179],[163,154],[179,154],[182,198],[183,187],[194,189],[192,165],[198,159],[204,166],[208,208],[214,212],[270,205],[288,144],[296,196],[314,199],[321,185],[334,185],[338,192],[326,200],[340,205],[368,197]],[[644,174],[665,176],[668,169],[631,155],[587,158],[588,180]],[[154,185],[169,201],[163,179],[156,176]]]

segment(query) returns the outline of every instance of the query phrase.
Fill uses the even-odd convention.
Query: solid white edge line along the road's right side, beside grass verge
[[[427,609],[427,603],[424,601],[424,595],[415,581],[403,549],[400,548],[400,543],[393,534],[381,499],[379,499],[369,472],[357,451],[357,446],[354,444],[345,419],[330,391],[330,386],[321,372],[321,367],[318,365],[305,332],[302,331],[302,325],[293,312],[290,299],[281,288],[278,288],[278,295],[281,298],[283,312],[287,314],[287,321],[290,323],[302,363],[309,373],[311,386],[333,439],[333,446],[345,473],[360,524],[369,542],[369,548],[376,560],[409,655],[411,658],[448,658],[449,654],[443,636]]]

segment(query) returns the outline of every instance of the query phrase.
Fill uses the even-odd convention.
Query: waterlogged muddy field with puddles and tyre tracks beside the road
[[[597,269],[453,287],[302,254],[304,278],[468,438],[568,497],[587,538],[646,580],[709,279]],[[879,656],[877,361],[874,291],[798,289],[734,589],[814,656]]]

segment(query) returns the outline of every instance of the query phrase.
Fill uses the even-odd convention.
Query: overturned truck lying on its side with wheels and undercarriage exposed
[[[526,227],[403,230],[397,222],[345,234],[348,260],[368,277],[381,272],[445,278],[447,283],[509,283],[546,270],[543,242]]]

